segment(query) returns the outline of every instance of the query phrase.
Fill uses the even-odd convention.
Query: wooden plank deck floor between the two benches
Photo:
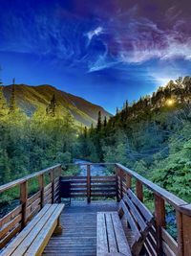
[[[96,255],[96,213],[115,211],[117,202],[93,201],[89,204],[74,201],[66,206],[62,215],[62,235],[51,238],[45,247],[45,256],[95,256]]]

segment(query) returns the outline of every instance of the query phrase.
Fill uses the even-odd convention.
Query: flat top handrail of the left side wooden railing
[[[24,183],[24,182],[26,182],[26,181],[32,179],[32,178],[35,177],[35,176],[44,175],[45,173],[49,173],[49,172],[51,172],[53,169],[55,169],[55,168],[57,168],[57,167],[60,167],[60,166],[61,166],[61,164],[57,164],[57,165],[54,165],[54,166],[52,166],[52,167],[50,167],[50,168],[47,168],[47,169],[44,169],[44,170],[42,170],[42,171],[36,172],[36,173],[34,173],[34,174],[32,174],[32,175],[27,175],[27,176],[18,178],[18,179],[16,179],[16,180],[13,180],[13,181],[11,181],[11,182],[9,182],[9,183],[7,183],[7,184],[1,185],[1,186],[0,186],[0,193],[3,193],[4,191],[9,190],[9,189],[11,189],[12,187],[15,187],[15,186],[17,186],[17,185],[20,185],[21,183]]]

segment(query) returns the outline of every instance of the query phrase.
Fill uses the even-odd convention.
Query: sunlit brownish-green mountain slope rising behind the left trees
[[[6,100],[10,101],[12,85],[3,86],[3,92]],[[27,84],[15,84],[16,104],[25,111],[27,115],[32,113],[38,107],[49,105],[53,94],[56,102],[63,112],[69,111],[76,124],[83,124],[90,127],[96,124],[98,111],[101,111],[102,117],[109,118],[111,114],[103,107],[94,105],[80,97],[61,91],[49,84],[30,86]]]

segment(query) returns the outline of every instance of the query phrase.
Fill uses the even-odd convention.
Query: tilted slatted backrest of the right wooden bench
[[[134,234],[131,250],[134,255],[138,255],[142,244],[145,242],[146,236],[154,223],[154,216],[136,197],[131,189],[128,189],[126,194],[120,200],[118,215],[120,219],[127,222],[128,227]]]

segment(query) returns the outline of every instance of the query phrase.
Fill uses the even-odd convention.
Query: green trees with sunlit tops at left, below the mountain
[[[9,103],[0,90],[0,183],[40,171],[74,157],[76,128],[69,112],[60,112],[53,95],[31,117],[16,105],[12,85]]]

